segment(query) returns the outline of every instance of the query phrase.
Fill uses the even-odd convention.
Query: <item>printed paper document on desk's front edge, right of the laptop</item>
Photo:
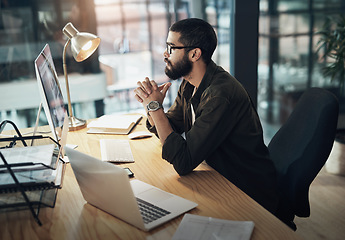
[[[252,221],[231,221],[185,214],[172,240],[249,240]]]

